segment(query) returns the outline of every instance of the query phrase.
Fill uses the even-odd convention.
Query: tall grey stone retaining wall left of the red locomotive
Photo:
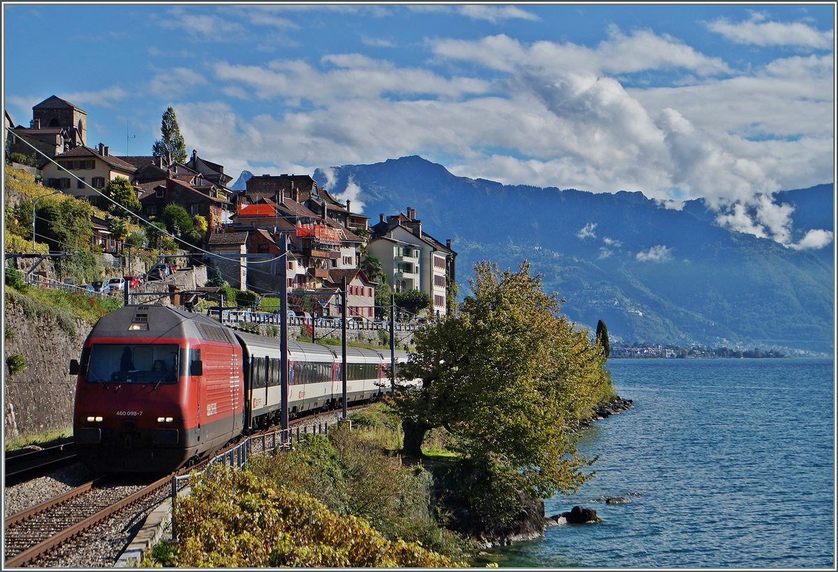
[[[72,426],[75,376],[69,373],[70,360],[79,359],[81,345],[93,327],[84,320],[73,322],[75,335],[70,335],[66,320],[59,325],[57,315],[49,314],[30,319],[19,304],[6,296],[8,335],[3,351],[6,439]],[[12,376],[6,359],[14,353],[23,356],[26,367]]]

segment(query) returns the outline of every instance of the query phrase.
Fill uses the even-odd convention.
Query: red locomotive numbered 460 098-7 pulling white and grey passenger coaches
[[[163,305],[101,317],[80,360],[70,361],[76,455],[98,473],[168,473],[277,424],[279,346],[278,338]],[[347,348],[347,405],[391,391],[390,358]],[[406,361],[396,351],[397,374]],[[339,347],[288,341],[289,417],[342,407],[341,367]]]

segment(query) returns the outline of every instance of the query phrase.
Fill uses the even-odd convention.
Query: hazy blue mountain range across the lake
[[[333,195],[378,213],[416,209],[458,252],[460,296],[480,260],[527,260],[580,325],[604,320],[613,341],[833,352],[834,243],[794,250],[715,223],[703,200],[667,209],[640,192],[595,194],[501,185],[418,156],[317,169]],[[794,237],[833,230],[833,185],[788,190]],[[353,209],[355,210],[355,209]]]

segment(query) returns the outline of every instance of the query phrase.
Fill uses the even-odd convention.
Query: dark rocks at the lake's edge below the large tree
[[[634,408],[634,401],[632,399],[623,399],[617,396],[608,403],[601,404],[594,410],[591,419],[582,420],[577,428],[573,429],[586,429],[591,426],[592,421],[606,419],[631,408]],[[603,500],[608,504],[631,502],[625,497],[606,498]],[[546,517],[544,513],[544,501],[542,499],[534,499],[521,493],[521,501],[523,502],[523,507],[515,522],[508,527],[477,529],[473,523],[461,522],[459,523],[461,526],[457,528],[459,532],[467,533],[468,536],[477,540],[481,549],[490,549],[495,546],[509,546],[515,542],[541,538],[544,536],[546,528],[558,526],[559,524],[595,523],[601,520],[597,517],[597,511],[584,507],[573,507],[570,512],[562,512],[552,517]],[[461,516],[463,521],[468,520],[468,518],[463,517],[465,515]],[[469,524],[472,526],[468,526]]]

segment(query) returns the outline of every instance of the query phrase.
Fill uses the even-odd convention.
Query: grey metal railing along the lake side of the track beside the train
[[[335,413],[335,421],[332,423],[337,424],[341,421],[338,418],[338,413]],[[183,486],[178,486],[178,483],[181,481],[186,481],[187,479],[193,476],[201,476],[204,475],[207,471],[215,470],[216,467],[219,465],[221,467],[230,466],[234,469],[243,469],[247,464],[247,461],[250,459],[251,455],[256,454],[265,454],[268,451],[276,451],[276,450],[286,450],[292,449],[295,442],[299,443],[302,439],[308,438],[308,428],[311,428],[311,434],[324,434],[328,435],[328,421],[325,423],[318,423],[318,424],[311,424],[311,425],[303,425],[303,431],[300,431],[300,426],[297,426],[292,429],[277,429],[276,431],[272,431],[271,433],[263,433],[261,435],[254,435],[252,437],[247,437],[243,440],[239,445],[235,445],[230,450],[226,450],[224,453],[220,455],[215,455],[209,463],[204,467],[203,471],[199,471],[196,473],[190,473],[189,475],[173,475],[172,476],[172,538],[175,542],[177,542],[177,528],[176,528],[176,502],[178,498],[178,492],[180,491]],[[352,429],[352,422],[349,421],[349,429]],[[256,445],[256,449],[254,450],[254,446]],[[184,484],[185,486],[185,484]]]

